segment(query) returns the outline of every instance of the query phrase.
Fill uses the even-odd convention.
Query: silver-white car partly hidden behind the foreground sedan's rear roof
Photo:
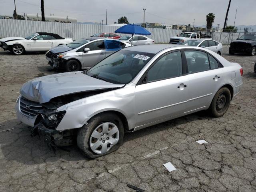
[[[222,54],[222,50],[223,50],[221,43],[211,39],[191,39],[182,43],[182,45],[206,48],[208,50],[216,52],[219,55]]]

